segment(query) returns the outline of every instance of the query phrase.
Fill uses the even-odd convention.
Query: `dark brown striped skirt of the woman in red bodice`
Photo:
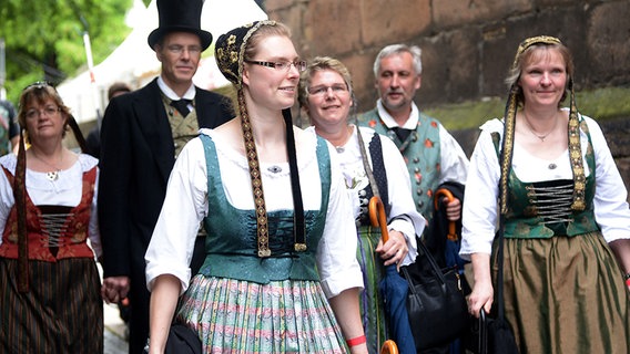
[[[0,353],[103,353],[103,301],[93,259],[29,261],[20,293],[18,261],[0,258]]]

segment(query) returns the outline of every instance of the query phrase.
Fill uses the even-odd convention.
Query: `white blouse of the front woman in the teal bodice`
[[[316,136],[294,127],[304,210],[318,210],[322,184],[316,157]],[[245,156],[213,129],[201,129],[215,143],[221,179],[227,201],[238,209],[254,209],[252,181]],[[326,225],[317,248],[317,270],[326,296],[338,295],[350,288],[363,288],[360,268],[356,260],[356,229],[352,207],[345,195],[344,180],[331,154],[331,194]],[[216,173],[216,171],[211,171]],[[288,163],[261,163],[261,175],[267,211],[293,209]],[[166,197],[146,250],[146,284],[161,274],[172,274],[181,281],[183,293],[191,279],[190,261],[197,228],[207,215],[206,162],[201,138],[193,138],[182,149],[169,178]]]

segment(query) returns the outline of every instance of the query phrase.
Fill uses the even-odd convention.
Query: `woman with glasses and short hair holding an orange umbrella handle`
[[[307,132],[315,132],[335,146],[347,194],[353,201],[365,288],[359,294],[360,312],[369,353],[378,353],[390,337],[378,283],[386,266],[407,266],[416,259],[416,235],[425,219],[416,211],[403,156],[394,143],[349,121],[356,110],[352,79],[336,59],[315,58],[302,73],[298,102],[308,115]],[[380,229],[370,226],[369,199],[378,195],[388,220],[389,239],[383,243]],[[403,345],[403,343],[398,343]]]

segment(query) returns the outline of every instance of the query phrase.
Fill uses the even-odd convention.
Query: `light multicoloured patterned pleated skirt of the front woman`
[[[204,353],[346,353],[318,282],[268,284],[195,275],[176,321],[195,330]]]

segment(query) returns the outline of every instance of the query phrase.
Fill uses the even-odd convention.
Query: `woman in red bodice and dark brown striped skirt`
[[[69,126],[84,140],[52,86],[24,88],[18,121],[18,156],[0,158],[0,352],[103,353],[98,160],[63,146]]]

